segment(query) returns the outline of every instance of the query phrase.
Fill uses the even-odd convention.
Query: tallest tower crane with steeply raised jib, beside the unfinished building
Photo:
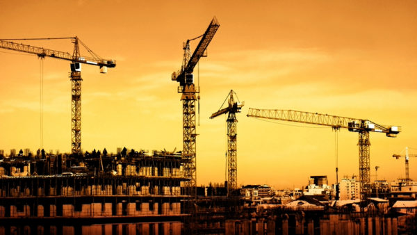
[[[193,56],[190,52],[190,41],[197,38],[187,40],[183,43],[183,62],[181,65],[181,70],[178,72],[173,72],[171,79],[172,81],[179,82],[178,92],[181,93],[181,101],[183,103],[183,161],[184,161],[184,177],[190,179],[186,182],[184,188],[186,189],[187,195],[196,195],[195,187],[197,186],[196,179],[196,145],[195,139],[197,136],[195,130],[195,101],[197,100],[196,94],[199,94],[199,87],[195,87],[194,84],[194,74],[193,70],[195,65],[197,65],[199,58],[204,56],[204,51],[206,51],[208,44],[210,44],[215,32],[218,30],[220,24],[218,20],[214,17],[206,32],[197,37],[202,38],[199,41],[199,44],[195,48]],[[199,97],[198,97],[199,99]]]

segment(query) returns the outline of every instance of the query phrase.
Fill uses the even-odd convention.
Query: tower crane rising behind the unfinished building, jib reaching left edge
[[[63,51],[56,51],[51,49],[44,49],[42,47],[33,47],[28,44],[21,44],[13,42],[15,40],[56,40],[56,39],[71,39],[74,43],[74,51],[72,54]],[[81,56],[79,43],[87,49],[92,57]],[[29,54],[38,55],[39,58],[51,57],[63,60],[70,60],[71,64],[71,83],[72,83],[72,128],[71,128],[71,146],[72,154],[81,154],[81,64],[96,65],[100,67],[101,73],[106,73],[108,67],[115,67],[115,60],[104,60],[97,56],[91,49],[89,49],[78,37],[70,38],[13,38],[0,39],[0,48],[13,51],[20,51]]]

